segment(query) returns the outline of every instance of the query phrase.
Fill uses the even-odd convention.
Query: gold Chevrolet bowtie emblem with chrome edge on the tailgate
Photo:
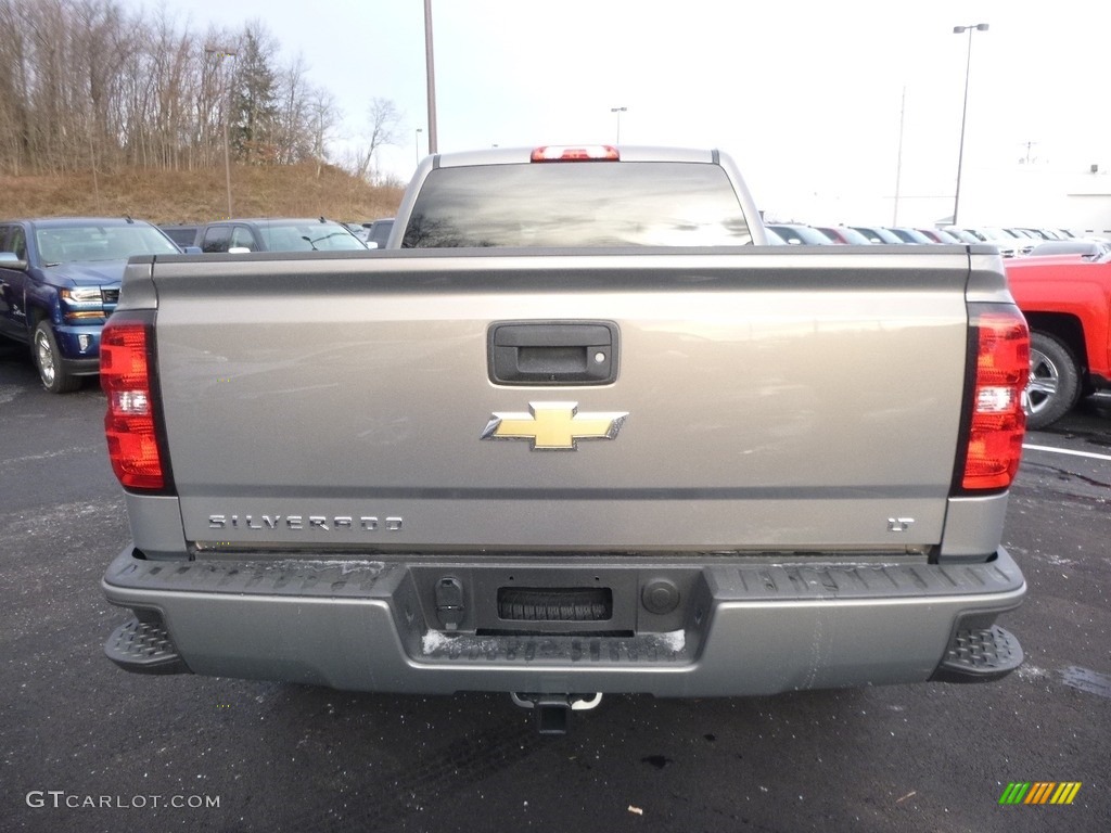
[[[579,413],[578,402],[530,402],[529,413],[494,413],[483,440],[531,440],[533,451],[574,451],[579,440],[612,440],[628,411]]]

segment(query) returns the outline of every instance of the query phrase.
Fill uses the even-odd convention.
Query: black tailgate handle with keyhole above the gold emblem
[[[494,384],[609,384],[618,375],[618,325],[611,321],[504,321],[490,325]]]

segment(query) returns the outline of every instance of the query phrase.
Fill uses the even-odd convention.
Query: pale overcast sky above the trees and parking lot
[[[358,141],[370,100],[391,99],[404,121],[379,163],[399,178],[427,151],[423,0],[164,8],[196,31],[263,21],[337,97],[338,139]],[[969,46],[952,29],[988,22],[972,36],[965,178],[1028,155],[1111,167],[1098,0],[432,0],[432,13],[441,152],[613,142],[624,107],[622,143],[721,148],[787,213],[890,201],[897,173],[904,199],[951,194]]]

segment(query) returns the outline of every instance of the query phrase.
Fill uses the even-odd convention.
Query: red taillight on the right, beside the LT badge
[[[1014,307],[973,304],[970,324],[975,367],[960,482],[965,491],[998,491],[1011,485],[1022,458],[1030,330]]]

